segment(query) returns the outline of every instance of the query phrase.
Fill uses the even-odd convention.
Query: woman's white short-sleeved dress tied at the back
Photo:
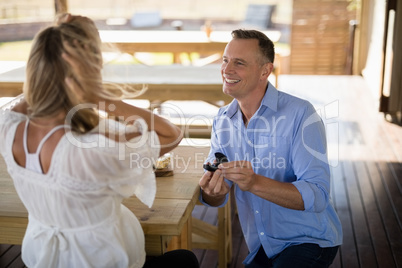
[[[29,214],[22,244],[28,267],[142,267],[144,233],[121,204],[135,194],[152,206],[156,184],[152,163],[160,144],[143,120],[130,131],[142,136],[126,143],[102,133],[125,126],[104,120],[93,132],[68,131],[54,150],[50,169],[40,174],[19,166],[12,155],[16,127],[25,115],[0,111],[0,152]]]

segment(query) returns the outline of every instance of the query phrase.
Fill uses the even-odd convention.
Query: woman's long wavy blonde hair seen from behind
[[[65,16],[65,14],[61,15]],[[60,16],[60,17],[61,17]],[[67,85],[66,78],[74,79],[84,85],[80,88],[86,96],[97,95],[106,99],[123,99],[136,96],[138,92],[126,92],[123,88],[103,86],[102,76],[102,42],[94,22],[86,17],[71,16],[67,22],[60,17],[56,24],[40,31],[34,38],[27,62],[26,80],[23,93],[29,106],[29,116],[49,117],[61,110],[68,113],[82,104],[79,98]],[[68,44],[84,57],[91,67],[99,71],[97,78],[74,76],[71,66],[62,58],[64,45]],[[86,133],[99,123],[98,110],[95,108],[77,109],[71,118],[74,131]]]

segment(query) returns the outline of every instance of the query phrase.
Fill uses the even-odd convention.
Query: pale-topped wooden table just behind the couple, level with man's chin
[[[138,99],[153,101],[203,100],[224,101],[232,97],[222,92],[220,64],[202,67],[182,65],[115,65],[107,64],[103,69],[105,81],[148,90]],[[0,74],[0,97],[21,94],[25,81],[25,67]]]

